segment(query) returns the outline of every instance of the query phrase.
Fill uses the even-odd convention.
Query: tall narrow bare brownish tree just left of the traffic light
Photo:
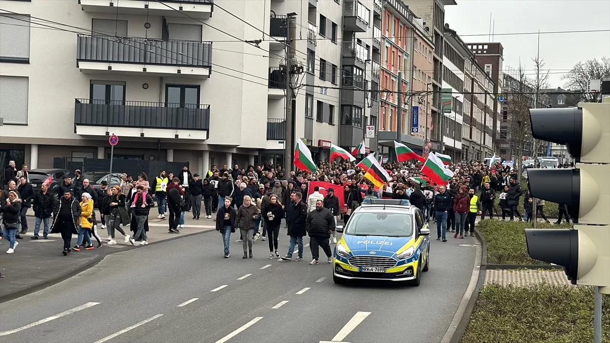
[[[525,70],[519,63],[519,73],[517,75],[517,84],[511,89],[508,95],[508,110],[511,114],[510,139],[515,143],[517,151],[515,151],[515,169],[521,170],[522,157],[525,142],[531,135],[531,126],[529,123],[529,109],[533,105],[532,95],[533,87],[525,76]]]

